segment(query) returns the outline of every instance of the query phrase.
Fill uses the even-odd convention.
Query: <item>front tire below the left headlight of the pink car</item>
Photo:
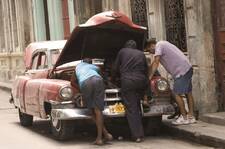
[[[55,139],[65,141],[72,138],[74,134],[74,121],[54,120],[51,117],[51,132]]]

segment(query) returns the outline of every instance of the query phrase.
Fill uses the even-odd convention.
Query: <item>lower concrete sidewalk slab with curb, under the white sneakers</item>
[[[225,126],[198,121],[196,124],[174,126],[171,120],[163,120],[163,131],[207,146],[225,148]]]

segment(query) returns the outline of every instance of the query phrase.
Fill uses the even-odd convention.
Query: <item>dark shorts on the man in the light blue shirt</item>
[[[93,76],[84,81],[81,93],[87,108],[104,110],[105,87],[101,77]]]

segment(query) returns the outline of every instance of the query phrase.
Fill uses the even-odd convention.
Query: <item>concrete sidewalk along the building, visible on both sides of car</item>
[[[0,89],[10,92],[12,84],[0,82]],[[196,124],[174,126],[171,120],[163,119],[163,131],[191,141],[225,149],[225,112],[206,114]]]

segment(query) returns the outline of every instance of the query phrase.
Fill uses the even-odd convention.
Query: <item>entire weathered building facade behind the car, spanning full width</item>
[[[23,72],[23,51],[33,41],[68,39],[92,15],[117,10],[168,40],[194,68],[200,114],[225,110],[225,2],[223,0],[0,0],[0,79]]]

